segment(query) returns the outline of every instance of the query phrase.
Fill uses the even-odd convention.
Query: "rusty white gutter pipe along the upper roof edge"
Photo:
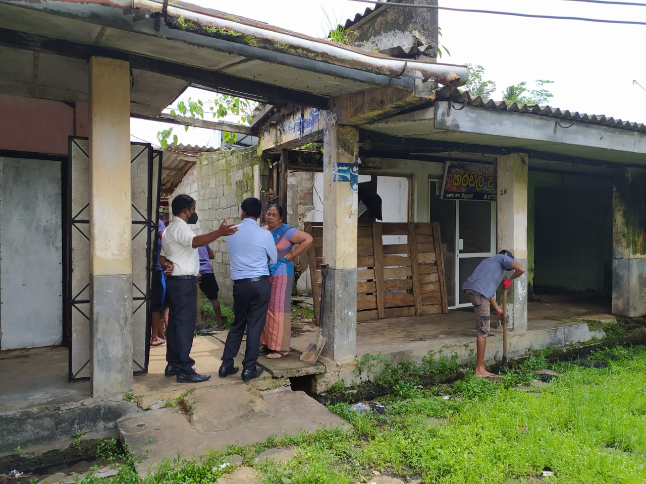
[[[340,61],[342,65],[349,68],[368,70],[374,74],[396,79],[403,77],[434,81],[446,86],[461,86],[468,80],[466,66],[393,59],[386,55],[281,30],[191,4],[181,2],[171,4],[162,0],[132,0],[132,5],[151,14],[163,15],[167,21],[181,17],[183,26],[201,30],[204,35],[229,36],[231,40],[244,41],[249,45],[327,61],[331,64]],[[183,30],[181,26],[178,28]]]

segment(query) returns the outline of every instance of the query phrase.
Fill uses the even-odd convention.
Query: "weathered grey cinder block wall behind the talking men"
[[[196,234],[216,230],[222,219],[240,223],[240,203],[254,196],[254,166],[260,165],[260,187],[266,187],[267,165],[256,154],[256,148],[207,152],[184,177],[174,196],[187,194],[196,201],[200,219],[194,228]],[[172,200],[171,200],[172,201]],[[219,299],[233,305],[233,283],[229,272],[229,256],[225,239],[211,244],[215,253],[213,269],[220,286]]]

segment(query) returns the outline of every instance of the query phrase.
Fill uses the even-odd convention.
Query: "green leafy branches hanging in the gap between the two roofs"
[[[205,109],[207,109],[207,114],[210,111],[213,114],[214,119],[222,119],[227,117],[230,114],[238,117],[238,120],[243,125],[250,125],[253,121],[253,108],[255,108],[256,103],[254,101],[249,101],[249,99],[242,99],[242,97],[229,96],[229,94],[218,94],[218,97],[211,101],[202,101],[197,99],[193,101],[189,97],[186,101],[179,101],[176,106],[171,108],[171,114],[180,114],[184,117],[190,117],[192,119],[204,119]],[[206,108],[205,106],[208,106]],[[178,144],[178,136],[172,133],[173,128],[168,128],[161,130],[157,133],[157,139],[160,142],[161,148],[168,146],[168,140],[172,136],[172,142]],[[184,131],[188,131],[189,126],[184,125]],[[238,136],[236,133],[223,131],[224,141],[229,145],[233,145]]]

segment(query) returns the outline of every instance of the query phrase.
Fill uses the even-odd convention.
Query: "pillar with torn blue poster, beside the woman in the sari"
[[[359,132],[329,125],[323,147],[323,263],[326,277],[323,355],[335,361],[357,350],[357,183]]]

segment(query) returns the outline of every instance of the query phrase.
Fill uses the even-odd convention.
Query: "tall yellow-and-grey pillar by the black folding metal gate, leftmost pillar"
[[[130,68],[92,57],[90,345],[92,396],[132,388]]]

